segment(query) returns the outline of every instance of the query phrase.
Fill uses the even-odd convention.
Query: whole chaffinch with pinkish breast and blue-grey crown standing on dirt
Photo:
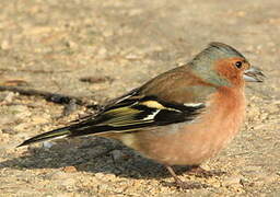
[[[110,138],[166,166],[178,187],[192,188],[173,166],[198,169],[225,148],[245,117],[245,83],[264,79],[235,48],[212,42],[190,61],[109,101],[100,112],[19,147],[62,137]]]

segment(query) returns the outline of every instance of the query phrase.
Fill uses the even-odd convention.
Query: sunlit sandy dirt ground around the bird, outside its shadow
[[[184,181],[107,139],[84,137],[15,147],[86,114],[0,92],[0,196],[280,196],[279,0],[1,0],[0,84],[103,104],[188,61],[208,43],[236,47],[267,76],[246,89],[242,132],[203,163],[226,174]],[[81,78],[91,78],[83,82]],[[182,171],[184,172],[184,171]]]

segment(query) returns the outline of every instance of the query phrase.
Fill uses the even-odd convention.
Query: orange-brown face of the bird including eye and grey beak
[[[241,57],[220,59],[215,62],[215,70],[234,86],[242,86],[245,81],[262,82],[264,77],[260,69]]]

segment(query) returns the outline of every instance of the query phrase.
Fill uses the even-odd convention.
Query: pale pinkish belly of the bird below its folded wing
[[[243,117],[209,118],[197,124],[174,124],[129,136],[129,147],[168,165],[195,165],[214,157],[238,131]],[[219,118],[219,117],[218,117]],[[178,131],[179,130],[179,131]]]

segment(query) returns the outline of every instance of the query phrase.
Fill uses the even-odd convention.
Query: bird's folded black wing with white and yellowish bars
[[[103,132],[130,132],[147,127],[190,121],[205,108],[203,103],[176,104],[154,96],[126,99],[94,118],[69,127],[70,136]]]

